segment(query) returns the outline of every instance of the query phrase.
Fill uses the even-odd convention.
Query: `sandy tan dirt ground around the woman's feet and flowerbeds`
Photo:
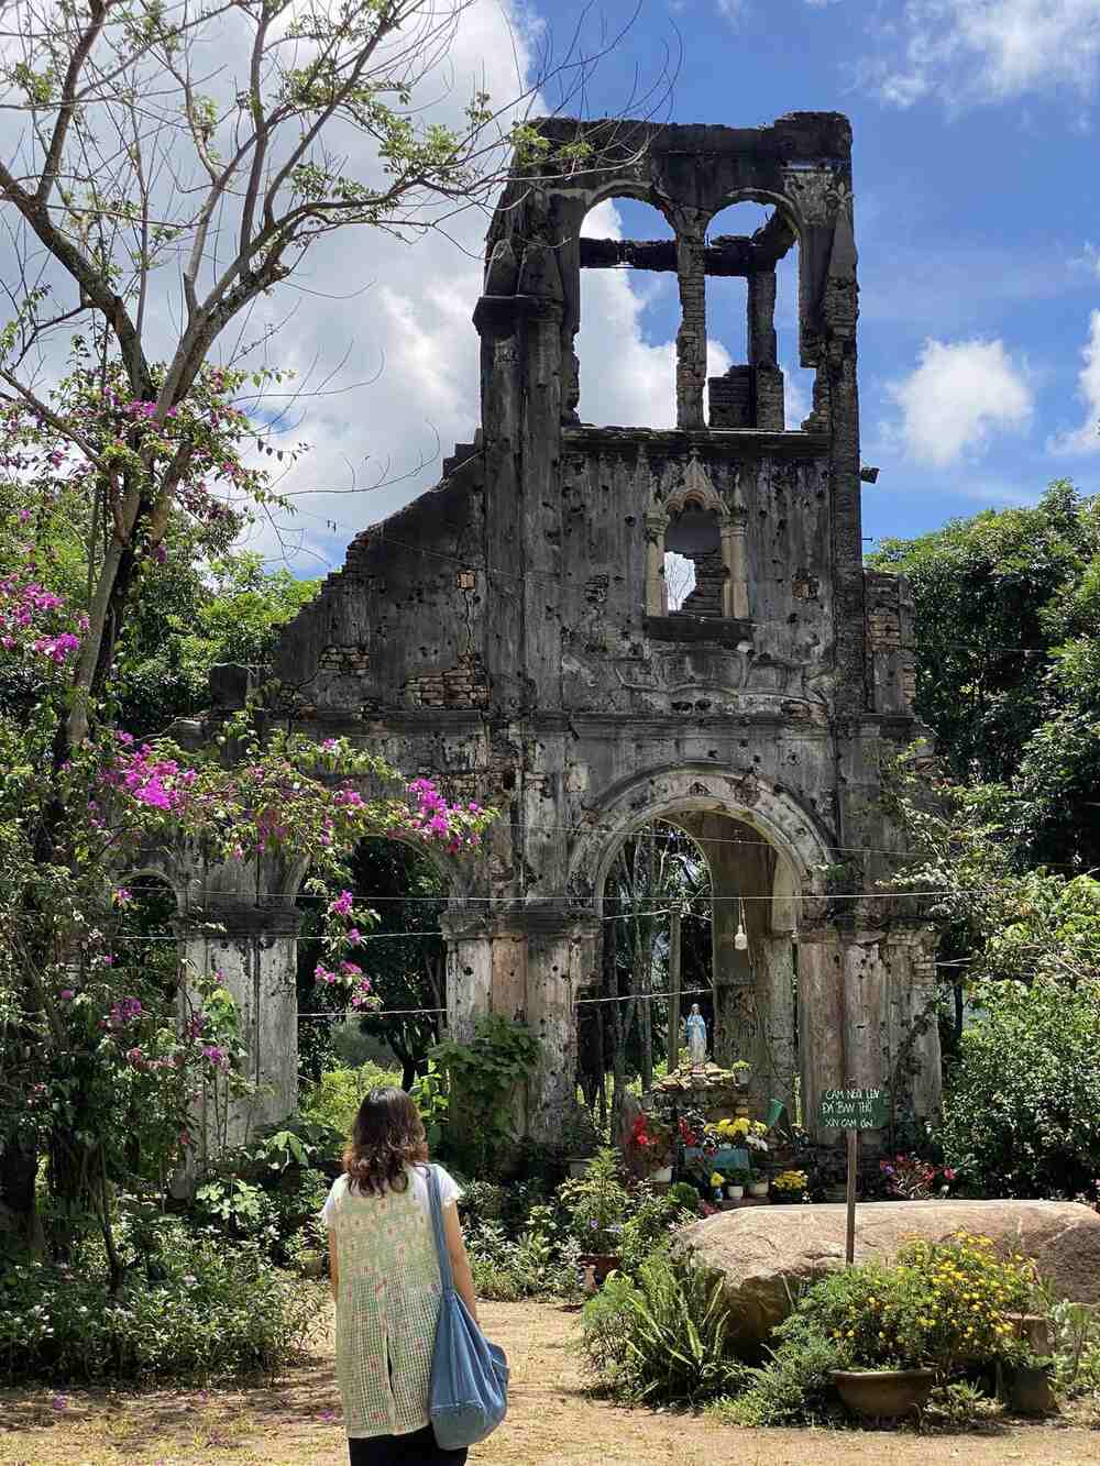
[[[540,1303],[483,1305],[512,1362],[507,1422],[471,1466],[1097,1466],[1100,1432],[1013,1423],[981,1435],[739,1431],[705,1416],[625,1410],[588,1399],[571,1340],[576,1315]],[[3,1466],[343,1466],[340,1400],[326,1349],[273,1390],[0,1391]]]

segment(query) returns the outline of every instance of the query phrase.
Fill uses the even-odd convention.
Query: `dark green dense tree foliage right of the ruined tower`
[[[1031,859],[1100,865],[1100,500],[1059,481],[871,563],[912,585],[917,710],[955,780],[1011,792]]]

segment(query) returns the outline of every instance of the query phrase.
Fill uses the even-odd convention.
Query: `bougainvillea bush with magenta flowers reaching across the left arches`
[[[194,862],[249,869],[305,858],[320,884],[339,877],[365,836],[458,853],[478,843],[490,814],[447,803],[428,780],[403,783],[346,740],[261,732],[248,711],[195,752],[169,739],[136,742],[113,724],[104,695],[88,704],[73,743],[72,670],[85,630],[85,614],[35,578],[34,553],[0,578],[0,690],[9,693],[0,712],[0,1215],[9,1250],[45,1242],[67,1259],[97,1231],[117,1287],[129,1261],[114,1239],[116,1193],[163,1193],[191,1146],[202,1083],[243,1088],[238,1013],[221,973],[183,973],[175,944],[166,962],[164,947],[135,934],[141,897],[128,872],[182,849]],[[364,787],[383,793],[367,799]],[[371,921],[342,890],[323,922],[317,981],[352,1010],[374,1001],[362,960]]]

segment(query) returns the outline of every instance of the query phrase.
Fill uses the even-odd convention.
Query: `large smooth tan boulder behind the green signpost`
[[[843,1267],[848,1208],[745,1207],[692,1223],[681,1237],[722,1272],[730,1338],[760,1350],[799,1286]],[[1034,1258],[1062,1297],[1100,1305],[1100,1215],[1066,1201],[887,1201],[857,1207],[855,1261],[892,1262],[902,1243],[942,1242],[959,1230]]]

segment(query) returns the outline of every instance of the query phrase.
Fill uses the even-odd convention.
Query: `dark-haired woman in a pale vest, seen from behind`
[[[345,1174],[321,1211],[336,1299],[336,1377],[352,1466],[461,1466],[428,1423],[428,1378],[440,1275],[428,1201],[428,1146],[403,1089],[371,1089],[343,1157]],[[462,1195],[436,1173],[455,1289],[477,1319],[458,1218]]]

